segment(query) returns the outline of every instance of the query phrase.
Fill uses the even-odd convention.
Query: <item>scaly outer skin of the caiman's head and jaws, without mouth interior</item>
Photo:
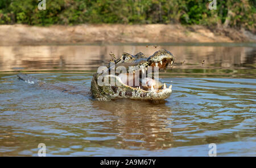
[[[162,64],[160,63],[162,61]],[[115,63],[115,68],[118,66],[124,66],[127,68],[130,67],[130,70],[138,71],[142,69],[146,71],[148,67],[158,66],[159,68],[167,68],[168,64],[171,65],[174,63],[173,55],[167,50],[156,51],[153,55],[146,58],[143,53],[138,53],[136,55],[131,55],[128,53],[123,53],[120,58],[112,61]],[[110,67],[110,63],[107,66],[109,71],[114,67]],[[108,72],[97,73],[93,75],[91,83],[92,96],[96,100],[109,101],[116,100],[121,98],[129,98],[131,100],[164,100],[169,97],[172,93],[171,86],[170,88],[162,88],[158,90],[145,91],[138,87],[130,87],[122,83],[122,80],[118,77],[118,74],[110,75]],[[114,79],[115,85],[98,85],[98,77],[106,76],[107,79]]]

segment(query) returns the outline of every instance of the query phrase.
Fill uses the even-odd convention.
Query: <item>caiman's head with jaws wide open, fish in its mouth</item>
[[[93,75],[91,91],[96,100],[164,100],[172,93],[155,75],[174,63],[174,56],[167,50],[156,51],[150,57],[143,53],[123,53],[112,59],[106,67],[98,68]]]

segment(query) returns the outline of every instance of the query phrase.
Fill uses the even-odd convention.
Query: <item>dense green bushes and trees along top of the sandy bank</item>
[[[254,0],[217,0],[217,10],[208,9],[208,0],[46,0],[46,10],[38,10],[39,2],[1,0],[0,24],[224,24],[255,32]]]

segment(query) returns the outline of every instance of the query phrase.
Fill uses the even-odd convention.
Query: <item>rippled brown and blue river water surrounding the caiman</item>
[[[159,105],[94,101],[19,81],[90,87],[112,51],[170,50],[160,77],[172,95]],[[0,46],[0,156],[256,156],[255,44]],[[205,60],[205,63],[201,62]]]

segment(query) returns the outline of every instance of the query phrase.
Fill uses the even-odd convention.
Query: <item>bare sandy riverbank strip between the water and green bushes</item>
[[[0,25],[0,45],[89,44],[98,42],[256,42],[256,35],[233,28],[180,24]]]

